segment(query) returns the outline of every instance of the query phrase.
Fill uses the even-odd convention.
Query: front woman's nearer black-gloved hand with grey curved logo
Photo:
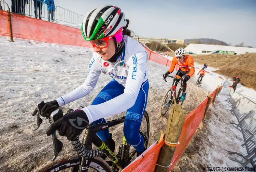
[[[47,129],[47,136],[59,130],[60,136],[66,136],[68,140],[73,140],[76,135],[80,135],[85,127],[89,125],[89,120],[83,110],[73,111],[58,119]]]

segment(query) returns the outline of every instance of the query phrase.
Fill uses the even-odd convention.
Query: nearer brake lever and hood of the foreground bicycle
[[[52,114],[50,115],[52,123],[54,123],[61,117],[63,117],[63,113],[61,109],[57,109],[53,111]],[[61,151],[63,147],[63,143],[57,138],[56,131],[53,132],[52,139],[53,139],[54,156],[52,157],[51,160],[54,161],[57,158],[59,152]]]

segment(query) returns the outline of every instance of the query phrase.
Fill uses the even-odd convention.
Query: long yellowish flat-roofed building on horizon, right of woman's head
[[[151,38],[151,37],[142,37],[142,36],[136,36],[134,39],[138,40],[142,43],[149,43],[152,41],[159,42],[161,44],[167,45],[170,42],[176,43],[176,44],[184,44],[184,39],[170,39],[170,38]]]

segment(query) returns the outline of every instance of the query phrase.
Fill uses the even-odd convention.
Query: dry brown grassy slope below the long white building
[[[199,64],[208,63],[216,67],[216,73],[233,77],[238,75],[241,83],[248,88],[256,89],[256,54],[224,55],[209,54],[193,56]]]

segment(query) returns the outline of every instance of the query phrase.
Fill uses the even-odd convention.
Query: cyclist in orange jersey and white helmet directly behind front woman
[[[183,48],[177,49],[174,53],[174,58],[172,60],[170,69],[163,74],[163,78],[166,79],[167,75],[173,72],[176,64],[179,66],[180,69],[177,71],[176,75],[179,75],[180,77],[184,76],[181,101],[184,101],[186,98],[187,81],[195,73],[194,59],[189,55],[185,55],[185,52],[186,50]]]

